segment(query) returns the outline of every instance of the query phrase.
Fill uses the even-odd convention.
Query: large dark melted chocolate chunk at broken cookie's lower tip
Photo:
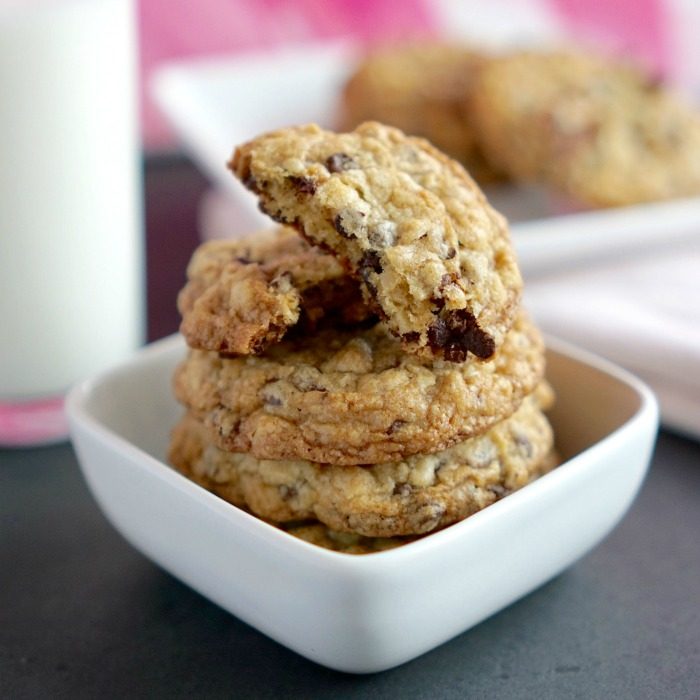
[[[464,362],[468,352],[485,360],[496,350],[493,338],[465,309],[448,311],[437,318],[428,328],[428,344],[433,351],[442,350],[448,362]]]

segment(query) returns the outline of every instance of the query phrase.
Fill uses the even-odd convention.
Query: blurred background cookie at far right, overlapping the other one
[[[583,53],[516,53],[479,71],[484,152],[590,206],[700,193],[700,115],[643,71]]]

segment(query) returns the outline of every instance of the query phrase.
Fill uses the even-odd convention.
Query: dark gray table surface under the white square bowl
[[[177,323],[206,185],[181,161],[149,163],[146,185],[153,339]],[[303,659],[145,559],[70,445],[0,450],[0,698],[52,697],[699,698],[700,443],[662,432],[638,499],[593,552],[371,676]]]

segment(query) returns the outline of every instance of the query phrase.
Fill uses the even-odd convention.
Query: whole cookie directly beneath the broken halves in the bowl
[[[534,389],[544,364],[542,338],[521,313],[486,362],[404,353],[379,324],[288,338],[259,357],[190,350],[175,392],[223,449],[376,464],[485,431]]]

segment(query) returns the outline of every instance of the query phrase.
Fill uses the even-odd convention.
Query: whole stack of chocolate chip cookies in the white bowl
[[[278,226],[206,243],[189,265],[180,471],[362,553],[554,465],[544,347],[507,225],[460,165],[366,123],[265,134],[230,167]]]

